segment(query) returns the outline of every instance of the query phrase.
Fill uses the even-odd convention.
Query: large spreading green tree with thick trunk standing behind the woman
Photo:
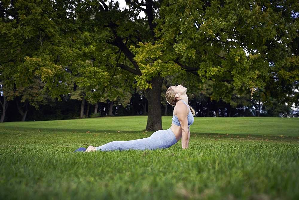
[[[11,79],[17,85],[18,80],[10,75],[19,74],[26,80],[39,76],[50,94],[59,97],[68,92],[70,73],[66,70],[78,61],[81,48],[84,52],[96,49],[98,54],[85,54],[80,61],[93,59],[105,65],[105,56],[121,51],[126,59],[107,67],[131,73],[137,87],[144,90],[148,131],[162,129],[160,95],[167,76],[179,74],[179,81],[192,80],[191,87],[213,81],[211,98],[226,102],[236,93],[252,94],[267,86],[273,86],[271,91],[278,88],[282,96],[291,92],[291,85],[298,88],[296,1],[126,3],[129,7],[120,10],[118,2],[104,0],[2,1],[1,34],[5,39],[1,41],[5,45],[1,69],[5,70],[1,77],[6,78],[1,80]],[[139,17],[141,12],[145,18]],[[83,42],[81,35],[92,35],[94,45]],[[5,50],[7,46],[12,48]],[[7,70],[9,65],[13,68]],[[291,94],[288,101],[294,102],[296,96]]]

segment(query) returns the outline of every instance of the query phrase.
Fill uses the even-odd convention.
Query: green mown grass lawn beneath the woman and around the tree
[[[171,124],[163,116],[163,129]],[[189,149],[72,153],[149,137],[147,116],[0,124],[0,199],[298,199],[299,119],[195,118]]]

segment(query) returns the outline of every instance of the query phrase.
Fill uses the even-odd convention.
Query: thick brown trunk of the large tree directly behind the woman
[[[163,78],[154,77],[149,83],[152,83],[152,89],[145,90],[145,96],[148,102],[147,131],[162,130],[162,110],[161,110],[161,89]]]

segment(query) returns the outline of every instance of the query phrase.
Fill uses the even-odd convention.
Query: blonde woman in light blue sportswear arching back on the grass
[[[190,125],[193,124],[195,111],[186,102],[188,96],[187,88],[181,85],[170,86],[166,91],[166,100],[173,109],[173,121],[171,127],[167,130],[159,130],[154,132],[150,137],[128,140],[128,141],[113,141],[102,146],[89,146],[87,149],[79,148],[76,151],[113,151],[113,150],[128,150],[128,149],[166,149],[180,139],[182,139],[182,149],[187,149],[190,138]]]

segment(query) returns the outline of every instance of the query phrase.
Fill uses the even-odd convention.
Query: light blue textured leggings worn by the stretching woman
[[[173,131],[168,128],[167,130],[159,130],[146,138],[128,141],[113,141],[106,143],[102,146],[96,147],[100,151],[113,151],[113,150],[128,150],[128,149],[166,149],[173,146],[178,141]]]

